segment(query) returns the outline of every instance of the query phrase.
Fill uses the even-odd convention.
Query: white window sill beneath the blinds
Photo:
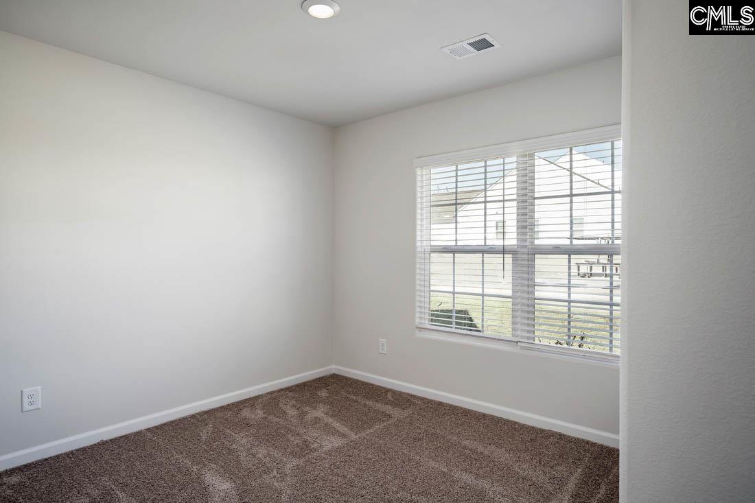
[[[474,335],[465,332],[445,329],[428,329],[427,327],[416,327],[414,334],[418,338],[430,339],[433,341],[447,341],[455,344],[465,344],[468,346],[488,347],[495,350],[526,352],[546,358],[556,358],[558,360],[569,360],[572,362],[584,362],[592,365],[609,366],[618,369],[619,356],[611,354],[602,354],[593,351],[580,350],[570,347],[553,347],[548,344],[538,344],[529,341],[517,341],[513,338],[492,338],[487,335]]]

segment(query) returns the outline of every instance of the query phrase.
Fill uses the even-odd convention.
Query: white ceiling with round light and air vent
[[[621,54],[621,0],[0,0],[0,29],[326,125]],[[488,32],[464,60],[444,45]]]

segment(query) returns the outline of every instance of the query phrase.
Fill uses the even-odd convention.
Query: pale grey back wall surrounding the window
[[[416,156],[618,122],[614,57],[338,128],[335,363],[618,433],[616,366],[415,335],[413,168]]]

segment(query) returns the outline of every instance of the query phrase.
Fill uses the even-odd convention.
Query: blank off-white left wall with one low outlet
[[[330,365],[332,139],[0,32],[0,455]]]

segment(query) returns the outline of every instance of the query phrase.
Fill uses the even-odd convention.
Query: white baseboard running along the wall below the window
[[[606,446],[618,448],[618,435],[609,433],[608,431],[596,430],[594,428],[580,426],[579,424],[560,421],[559,419],[547,418],[543,415],[510,409],[508,407],[496,405],[495,403],[482,402],[481,400],[474,400],[473,398],[460,397],[459,395],[445,393],[445,391],[432,390],[429,387],[422,387],[417,386],[416,384],[409,384],[408,382],[396,381],[395,379],[384,378],[380,375],[368,374],[367,372],[347,369],[341,366],[334,366],[333,372],[335,372],[336,374],[345,375],[350,378],[377,384],[378,386],[390,387],[393,390],[404,391],[405,393],[411,393],[414,395],[419,395],[420,397],[438,400],[439,402],[451,403],[452,405],[464,407],[466,409],[485,412],[485,414],[497,415],[499,418],[519,421],[520,423],[530,424],[531,426],[545,428],[547,430],[558,431],[562,434],[571,435],[572,437],[580,437],[586,440],[592,440],[593,442],[602,443]]]

